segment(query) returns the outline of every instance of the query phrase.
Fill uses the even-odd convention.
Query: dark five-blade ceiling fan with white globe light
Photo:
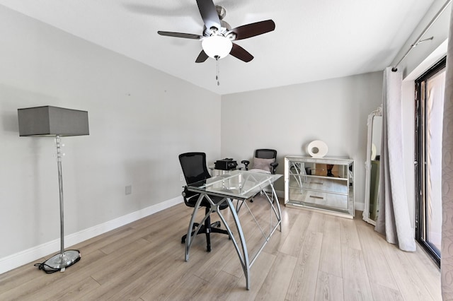
[[[222,59],[228,54],[241,59],[241,61],[251,61],[253,55],[247,52],[243,47],[235,44],[233,41],[247,39],[256,35],[262,35],[275,30],[273,20],[264,20],[256,23],[250,23],[231,29],[223,18],[226,15],[225,8],[214,6],[212,0],[197,0],[198,9],[205,25],[203,26],[202,35],[191,33],[172,33],[168,31],[158,31],[159,35],[168,37],[183,37],[202,41],[202,51],[195,60],[196,63],[206,61],[208,57],[213,59]]]

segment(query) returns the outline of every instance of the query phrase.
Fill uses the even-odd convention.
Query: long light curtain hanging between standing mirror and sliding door
[[[384,71],[382,144],[377,232],[403,251],[415,251],[404,175],[401,123],[401,71]],[[406,159],[407,160],[407,159]]]

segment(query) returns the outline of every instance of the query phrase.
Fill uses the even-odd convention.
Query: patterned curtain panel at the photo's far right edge
[[[453,11],[447,52],[444,127],[442,131],[442,299],[453,300]]]

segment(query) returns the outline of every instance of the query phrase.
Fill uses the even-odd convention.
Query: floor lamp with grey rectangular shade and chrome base
[[[28,107],[18,109],[19,136],[55,137],[57,142],[57,166],[59,184],[60,252],[47,259],[40,268],[48,271],[64,271],[80,259],[76,250],[64,251],[64,206],[62,151],[60,138],[63,136],[89,135],[88,112],[62,107]]]

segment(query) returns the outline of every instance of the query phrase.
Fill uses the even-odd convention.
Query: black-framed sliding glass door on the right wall
[[[415,235],[440,265],[445,58],[415,81]]]

